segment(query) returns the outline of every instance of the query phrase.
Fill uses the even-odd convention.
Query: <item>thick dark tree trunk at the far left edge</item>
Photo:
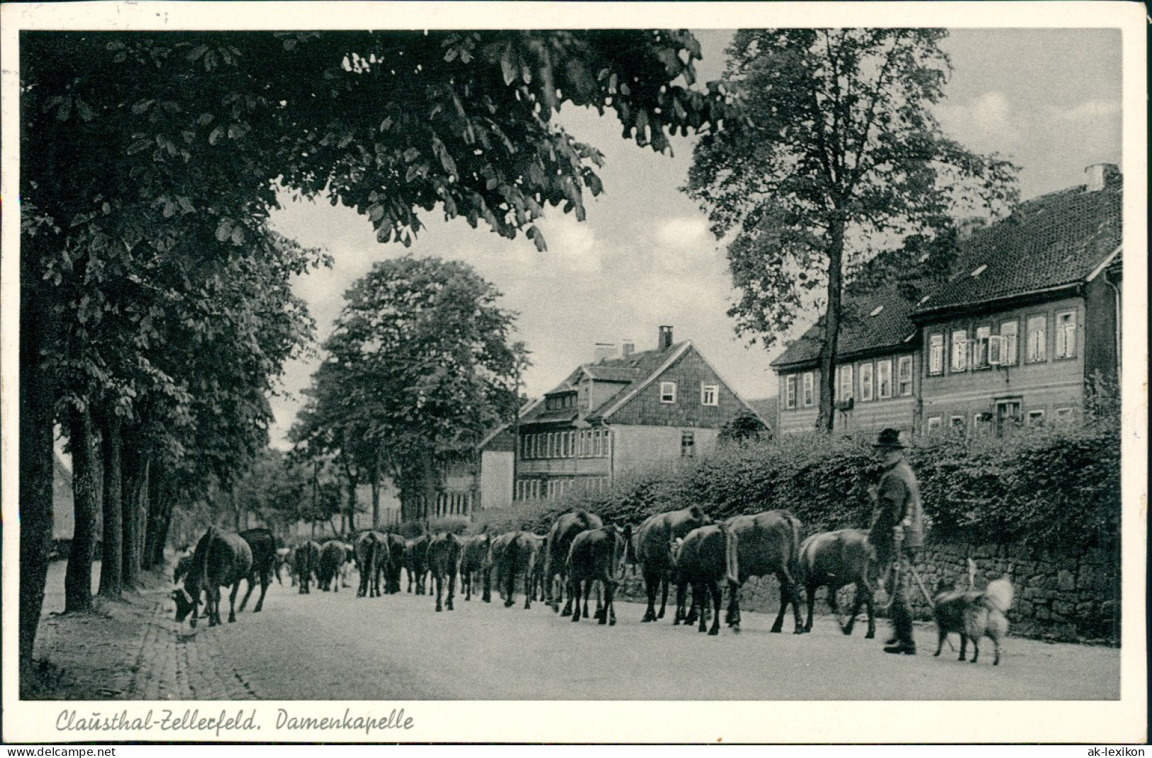
[[[53,309],[22,240],[20,298],[20,689],[33,687],[32,654],[52,548],[53,400],[41,355],[52,343]],[[31,268],[31,271],[30,271]]]

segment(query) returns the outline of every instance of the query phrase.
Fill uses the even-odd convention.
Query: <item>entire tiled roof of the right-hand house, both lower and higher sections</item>
[[[1084,281],[1119,247],[1120,238],[1119,181],[1100,191],[1089,192],[1079,185],[1023,203],[1007,219],[961,241],[952,276],[930,287],[919,303],[904,300],[894,283],[856,295],[846,293],[846,310],[850,306],[858,318],[843,324],[839,354],[851,357],[901,347],[917,333],[912,318],[931,319],[942,309]],[[879,306],[882,309],[878,313],[869,316]],[[821,323],[817,323],[772,365],[814,362],[820,356],[820,332]]]

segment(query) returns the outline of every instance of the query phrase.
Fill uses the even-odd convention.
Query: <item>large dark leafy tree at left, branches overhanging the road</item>
[[[418,211],[437,210],[543,247],[546,206],[582,217],[584,190],[600,191],[600,153],[552,123],[561,104],[611,109],[655,150],[727,113],[722,92],[690,89],[699,46],[683,31],[25,32],[20,53],[22,682],[56,400],[76,389],[54,356],[107,291],[147,302],[147,261],[195,268],[190,220],[259,257],[286,187],[355,207],[385,241],[410,242]],[[149,311],[136,318],[149,334]]]

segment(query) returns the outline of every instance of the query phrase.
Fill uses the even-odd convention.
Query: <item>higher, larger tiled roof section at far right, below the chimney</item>
[[[1117,181],[1094,192],[1081,185],[1021,204],[958,245],[953,278],[917,314],[1084,281],[1120,245],[1121,199]]]

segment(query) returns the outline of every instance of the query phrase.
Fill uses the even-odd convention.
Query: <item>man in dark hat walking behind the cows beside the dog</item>
[[[924,547],[924,511],[920,508],[919,482],[904,460],[905,447],[903,435],[895,429],[886,429],[877,438],[880,483],[869,539],[880,566],[892,563],[895,574],[892,588],[892,622],[895,634],[884,652],[915,655],[908,573],[916,552]]]

